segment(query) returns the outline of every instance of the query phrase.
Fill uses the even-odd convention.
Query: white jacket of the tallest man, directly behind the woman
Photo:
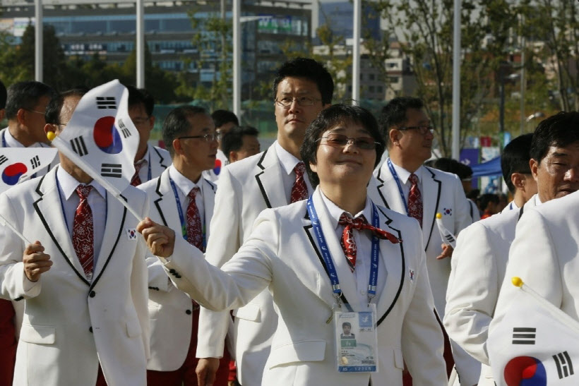
[[[253,221],[262,210],[288,204],[282,181],[282,165],[275,143],[258,155],[242,159],[222,169],[211,237],[205,257],[221,267],[249,237]],[[234,310],[234,356],[241,385],[258,385],[277,327],[277,314],[268,291]],[[198,358],[220,357],[229,325],[229,313],[213,313],[201,308],[197,344]]]

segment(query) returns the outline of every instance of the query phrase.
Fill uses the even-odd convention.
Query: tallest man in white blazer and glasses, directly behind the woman
[[[283,64],[274,80],[277,141],[268,150],[242,159],[222,170],[215,196],[207,260],[221,267],[249,237],[253,221],[262,210],[306,198],[312,191],[306,174],[297,178],[304,133],[318,113],[328,107],[333,80],[326,68],[313,59],[298,58]],[[299,171],[298,171],[299,172]],[[294,195],[294,198],[296,196]],[[258,385],[277,327],[272,297],[262,291],[249,304],[234,310],[234,342],[237,375],[241,385]],[[229,313],[213,313],[201,308],[197,356],[198,374],[215,369],[222,356]],[[217,342],[217,344],[216,344]]]

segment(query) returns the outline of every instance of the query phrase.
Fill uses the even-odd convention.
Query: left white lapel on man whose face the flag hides
[[[88,282],[85,277],[83,267],[80,265],[80,261],[76,256],[71,235],[68,233],[68,228],[64,221],[59,188],[56,186],[57,169],[58,168],[52,169],[46,176],[40,179],[36,188],[36,192],[40,198],[32,205],[42,225],[52,239],[54,246],[56,246],[56,249],[58,249],[64,260],[66,260],[66,263],[68,263],[80,280],[90,286],[90,282]]]

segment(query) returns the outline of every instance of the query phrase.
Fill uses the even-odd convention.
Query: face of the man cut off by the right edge
[[[579,141],[565,147],[549,147],[541,163],[530,161],[542,203],[579,189]]]

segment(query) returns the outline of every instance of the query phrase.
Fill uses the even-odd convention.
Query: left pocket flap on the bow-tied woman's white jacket
[[[274,368],[285,363],[323,361],[325,356],[326,341],[323,339],[290,342],[272,347],[267,366]]]

